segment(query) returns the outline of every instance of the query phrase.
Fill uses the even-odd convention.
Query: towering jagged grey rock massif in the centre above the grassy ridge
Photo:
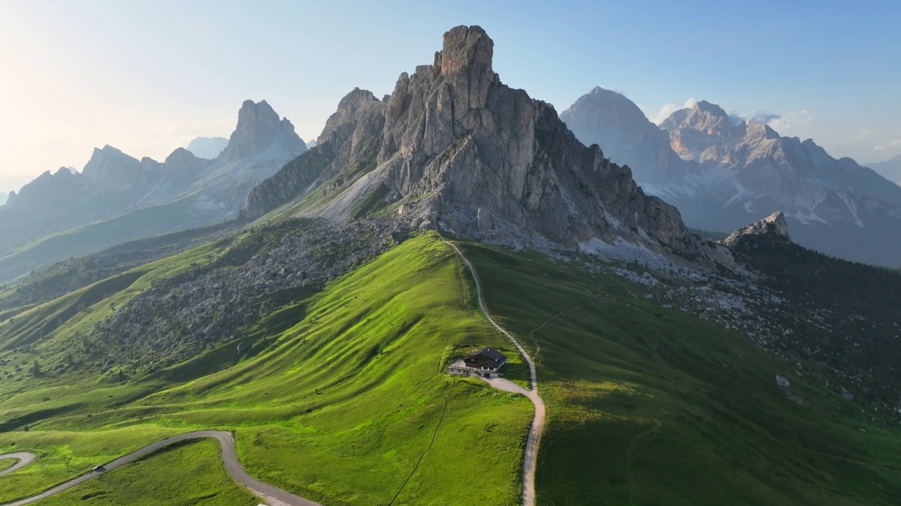
[[[287,203],[349,218],[384,194],[378,205],[396,206],[414,227],[508,244],[540,236],[570,247],[626,240],[702,253],[676,208],[579,142],[550,104],[503,85],[493,54],[484,30],[459,26],[444,34],[432,65],[402,74],[384,100],[354,90],[314,149],[251,192],[245,216]],[[316,190],[312,205],[301,203]]]

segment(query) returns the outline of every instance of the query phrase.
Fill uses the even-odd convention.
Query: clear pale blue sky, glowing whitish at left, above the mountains
[[[558,112],[594,86],[652,121],[707,100],[880,161],[901,154],[899,21],[878,1],[0,0],[0,192],[107,144],[161,160],[228,137],[246,99],[315,139],[343,95],[390,94],[459,24]]]

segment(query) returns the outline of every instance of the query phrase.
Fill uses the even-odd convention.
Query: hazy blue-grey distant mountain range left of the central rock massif
[[[0,207],[0,280],[127,240],[233,218],[255,185],[305,151],[291,122],[265,101],[250,100],[214,159],[179,148],[160,163],[111,146],[95,149],[81,172],[48,171],[9,194]]]

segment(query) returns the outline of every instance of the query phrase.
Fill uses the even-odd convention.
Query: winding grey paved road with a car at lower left
[[[170,436],[165,439],[160,439],[159,441],[157,441],[155,443],[151,443],[150,445],[147,445],[146,447],[142,447],[138,450],[135,450],[126,456],[121,456],[121,457],[115,459],[113,462],[110,462],[109,464],[105,464],[104,465],[105,471],[101,471],[101,472],[91,471],[88,474],[82,474],[81,476],[78,476],[77,478],[75,478],[73,480],[69,480],[66,483],[60,483],[59,485],[51,488],[50,490],[41,492],[38,495],[29,497],[28,499],[23,499],[21,501],[9,502],[9,503],[3,504],[2,506],[24,506],[25,504],[31,504],[32,502],[40,501],[41,499],[45,499],[47,497],[50,497],[51,495],[68,490],[68,489],[76,486],[77,484],[85,483],[87,480],[90,480],[91,478],[94,478],[100,474],[103,474],[108,471],[112,471],[116,467],[130,464],[143,456],[149,456],[151,453],[159,450],[160,448],[168,447],[168,445],[177,443],[178,441],[184,441],[186,439],[197,439],[197,438],[215,438],[215,439],[217,439],[219,441],[219,446],[222,447],[223,464],[225,465],[225,469],[227,469],[228,472],[231,473],[232,476],[234,476],[234,479],[237,480],[238,483],[241,483],[242,485],[246,486],[247,488],[250,489],[250,492],[255,493],[259,497],[262,497],[264,499],[275,499],[277,501],[281,501],[282,503],[287,504],[288,506],[321,506],[319,503],[316,503],[314,501],[308,501],[308,500],[304,499],[303,497],[297,497],[293,493],[285,492],[285,491],[283,491],[279,488],[276,488],[268,483],[262,483],[259,480],[256,480],[255,478],[253,478],[253,476],[250,476],[250,474],[247,474],[244,471],[244,469],[241,467],[241,464],[238,463],[238,456],[236,456],[234,453],[234,439],[232,438],[232,434],[229,432],[223,432],[222,430],[196,430],[194,432],[186,432],[184,434],[178,434],[177,436]],[[11,455],[15,456],[15,455],[21,455],[21,454],[11,454]],[[31,456],[32,459],[34,458],[34,456],[31,454],[27,454],[27,455]],[[31,462],[31,460],[29,460],[29,462]],[[28,464],[28,462],[26,462],[25,464]],[[14,466],[14,468],[17,469],[22,466],[23,466],[23,464],[22,464],[22,462],[20,462],[19,464]],[[0,473],[0,474],[6,474],[9,472],[10,471],[7,470],[5,473]]]

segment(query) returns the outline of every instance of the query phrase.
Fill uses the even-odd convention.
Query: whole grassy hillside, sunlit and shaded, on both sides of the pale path
[[[0,501],[168,434],[210,428],[233,431],[251,474],[329,505],[518,503],[532,405],[443,374],[451,357],[478,346],[515,354],[478,316],[469,275],[432,234],[238,330],[235,340],[258,343],[252,354],[237,357],[232,340],[143,374],[28,370],[67,352],[89,364],[67,347],[90,319],[178,272],[246,261],[262,236],[246,237],[254,239],[125,271],[0,325],[0,453],[39,455],[0,478]],[[491,311],[538,365],[549,417],[541,506],[889,505],[901,496],[897,429],[738,331],[664,308],[622,277],[589,275],[578,258],[462,244]],[[81,303],[91,305],[69,314]],[[41,329],[50,331],[35,337]],[[509,373],[525,378],[517,358]],[[792,386],[779,388],[776,375]],[[223,488],[216,458],[204,443],[177,447],[143,461],[140,473],[126,467],[66,497],[131,503],[145,495],[139,476],[172,473],[191,481],[170,494],[240,503]]]

